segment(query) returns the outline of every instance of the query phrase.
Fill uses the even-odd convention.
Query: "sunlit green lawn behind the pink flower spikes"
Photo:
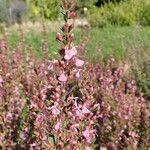
[[[150,49],[150,27],[107,27],[107,28],[92,28],[88,29],[90,34],[89,42],[85,49],[87,58],[92,56],[98,58],[103,55],[114,55],[116,59],[123,59],[127,49],[131,47],[142,47],[143,49]],[[81,29],[75,30],[75,44],[77,45],[81,37]],[[57,50],[61,45],[58,45],[55,40],[55,32],[47,33],[47,42],[49,49],[49,56],[57,55]],[[9,46],[10,48],[17,45],[19,41],[19,33],[16,31],[9,32]],[[36,54],[40,56],[42,45],[41,32],[31,30],[25,33],[26,45],[32,45]],[[101,51],[97,51],[97,49]]]

